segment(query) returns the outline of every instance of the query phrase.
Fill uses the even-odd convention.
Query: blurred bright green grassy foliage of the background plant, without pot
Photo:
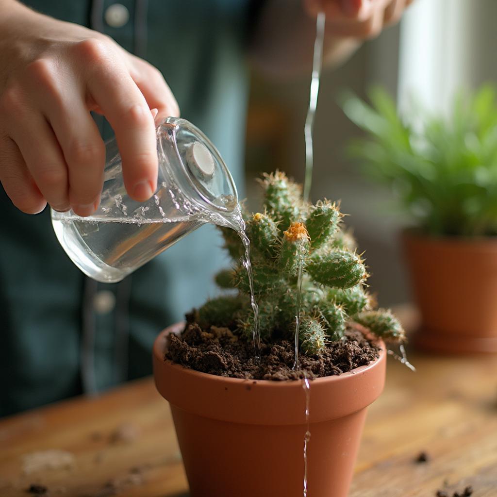
[[[366,132],[351,145],[367,173],[388,185],[432,235],[497,234],[497,101],[492,86],[455,97],[450,116],[419,110],[401,119],[379,88],[372,105],[347,94],[345,114]]]

